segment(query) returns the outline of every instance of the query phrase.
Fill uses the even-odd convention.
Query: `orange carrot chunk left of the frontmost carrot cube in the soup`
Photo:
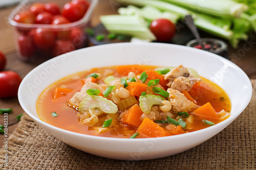
[[[132,106],[130,109],[124,111],[124,115],[121,118],[121,122],[125,125],[133,127],[139,127],[142,123],[140,116],[143,114],[138,105]]]

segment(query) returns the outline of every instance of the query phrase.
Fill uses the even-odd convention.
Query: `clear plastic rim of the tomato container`
[[[61,25],[50,25],[50,24],[39,24],[39,23],[20,23],[13,20],[14,16],[20,12],[20,10],[23,10],[27,4],[31,4],[31,0],[24,0],[19,3],[19,5],[10,13],[7,20],[9,24],[14,28],[19,29],[35,29],[35,28],[48,28],[48,29],[60,29],[60,30],[67,30],[74,27],[81,27],[85,25],[87,22],[89,22],[93,11],[95,10],[98,0],[87,0],[90,1],[90,6],[87,10],[87,12],[84,14],[84,16],[75,22],[65,23]],[[35,1],[35,3],[40,2],[40,0]]]

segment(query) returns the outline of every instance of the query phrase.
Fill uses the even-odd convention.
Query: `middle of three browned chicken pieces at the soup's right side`
[[[178,90],[180,92],[187,90],[189,91],[196,82],[202,81],[201,78],[194,78],[194,77],[178,77],[174,79],[170,88]]]

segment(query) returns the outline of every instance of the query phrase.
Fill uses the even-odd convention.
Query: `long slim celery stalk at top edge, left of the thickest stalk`
[[[118,1],[118,0],[115,0]],[[152,6],[159,10],[170,11],[181,14],[182,16],[188,15],[189,11],[177,5],[161,2],[157,0],[122,0],[123,4],[136,5],[136,6]]]

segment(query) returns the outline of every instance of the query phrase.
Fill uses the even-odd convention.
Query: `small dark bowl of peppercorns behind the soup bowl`
[[[204,46],[200,48],[198,44],[198,40],[194,39],[189,41],[186,46],[200,48],[202,50],[215,53],[219,56],[222,56],[226,59],[229,59],[228,51],[227,51],[227,44],[224,41],[214,38],[201,38],[202,45]]]

